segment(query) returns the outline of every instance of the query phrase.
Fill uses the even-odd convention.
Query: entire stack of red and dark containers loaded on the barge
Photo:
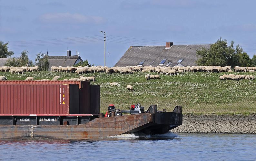
[[[100,86],[89,81],[0,81],[0,114],[99,114]]]

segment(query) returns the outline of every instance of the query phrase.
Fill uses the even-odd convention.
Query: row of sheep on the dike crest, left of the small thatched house
[[[38,66],[34,66],[34,67],[8,67],[8,66],[1,66],[0,67],[0,71],[9,71],[11,73],[21,73],[23,74],[23,72],[28,72],[28,71],[38,71]]]

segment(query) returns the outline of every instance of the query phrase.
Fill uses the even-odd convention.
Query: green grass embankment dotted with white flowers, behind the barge
[[[140,102],[147,109],[156,104],[158,109],[172,111],[176,105],[182,105],[182,113],[189,114],[250,114],[256,113],[256,80],[222,81],[219,76],[231,73],[185,73],[175,76],[160,75],[159,80],[145,80],[146,74],[106,74],[89,73],[84,76],[95,76],[91,84],[101,85],[101,111],[106,111],[108,104],[117,108],[128,109],[130,105]],[[256,73],[234,72],[233,74],[254,75]],[[52,79],[60,75],[63,79],[79,77],[75,73],[28,72],[11,74],[0,72],[8,80]],[[82,74],[80,74],[82,75]],[[118,86],[110,86],[110,82],[118,82]],[[133,86],[133,92],[126,89]]]

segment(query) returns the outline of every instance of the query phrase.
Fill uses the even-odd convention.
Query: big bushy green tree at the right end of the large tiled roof
[[[218,65],[218,66],[228,66],[231,67],[238,66],[241,54],[243,54],[243,49],[237,45],[234,49],[234,42],[231,41],[228,45],[227,40],[218,39],[215,43],[211,44],[209,49],[202,48],[197,50],[196,54],[200,58],[196,61],[198,66],[202,65]]]

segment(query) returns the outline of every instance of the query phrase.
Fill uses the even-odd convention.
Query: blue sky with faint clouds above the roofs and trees
[[[114,64],[130,46],[214,43],[220,37],[256,54],[256,1],[246,0],[0,0],[0,41],[27,50]]]

